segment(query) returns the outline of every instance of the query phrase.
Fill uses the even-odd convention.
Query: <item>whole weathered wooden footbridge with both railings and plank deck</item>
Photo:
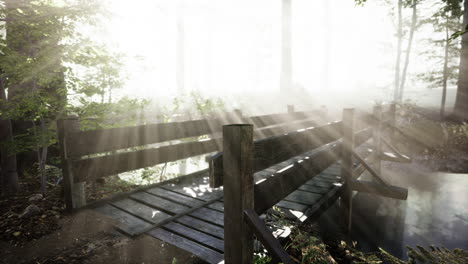
[[[226,125],[231,123],[240,125]],[[320,112],[288,107],[286,114],[245,118],[235,111],[211,120],[96,131],[79,131],[79,120],[70,118],[58,128],[69,209],[94,208],[129,236],[150,235],[208,263],[250,262],[252,232],[275,261],[293,263],[274,238],[285,234],[282,227],[267,226],[258,216],[273,206],[291,219],[310,221],[341,197],[349,228],[353,190],[407,197],[380,176],[381,160],[409,161],[391,145],[398,131],[395,105],[357,118],[345,109],[343,120],[331,123]],[[197,140],[204,135],[209,137]],[[163,143],[178,139],[185,141]],[[150,147],[134,150],[143,145]],[[208,159],[209,170],[86,205],[86,181],[221,150]],[[365,171],[375,181],[358,180]]]

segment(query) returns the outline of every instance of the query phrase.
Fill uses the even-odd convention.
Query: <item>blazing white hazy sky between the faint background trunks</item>
[[[328,14],[325,1],[331,5]],[[365,7],[353,0],[292,2],[293,81],[298,86],[324,92],[324,39],[330,34],[327,92],[348,95],[365,89],[391,97],[396,46],[391,7],[382,1]],[[130,78],[123,94],[175,94],[177,12],[184,17],[187,90],[279,89],[281,0],[113,0],[109,10],[114,15],[96,37],[127,56]],[[421,64],[417,55],[412,59],[410,71]]]

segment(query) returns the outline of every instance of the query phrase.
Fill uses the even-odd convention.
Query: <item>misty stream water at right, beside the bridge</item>
[[[412,169],[384,175],[393,185],[408,188],[408,200],[356,194],[350,237],[358,249],[375,252],[381,247],[404,260],[406,246],[468,249],[468,174]],[[322,236],[340,237],[339,216],[334,206],[318,220]]]

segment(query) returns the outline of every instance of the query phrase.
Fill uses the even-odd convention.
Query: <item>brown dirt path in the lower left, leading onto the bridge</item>
[[[127,238],[91,210],[65,217],[60,226],[21,246],[0,242],[0,263],[202,263],[149,236]]]

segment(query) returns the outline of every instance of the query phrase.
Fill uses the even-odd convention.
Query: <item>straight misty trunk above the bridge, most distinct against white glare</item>
[[[280,91],[288,92],[292,85],[292,51],[291,51],[291,0],[282,0],[282,36],[281,36],[281,76]]]

